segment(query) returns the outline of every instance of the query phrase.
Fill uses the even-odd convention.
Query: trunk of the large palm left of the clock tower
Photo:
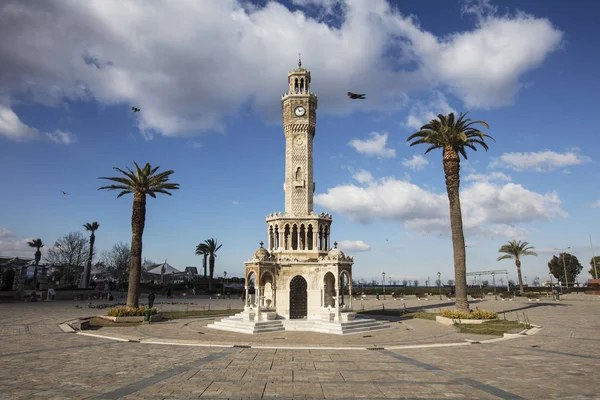
[[[134,193],[131,214],[131,264],[129,267],[129,288],[127,307],[137,307],[140,298],[140,278],[142,275],[142,236],[146,224],[146,195]]]

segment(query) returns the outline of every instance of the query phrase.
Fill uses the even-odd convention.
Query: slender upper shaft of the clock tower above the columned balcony
[[[281,98],[285,134],[285,213],[294,217],[313,214],[313,138],[317,96],[310,91],[310,71],[288,72],[288,91]]]

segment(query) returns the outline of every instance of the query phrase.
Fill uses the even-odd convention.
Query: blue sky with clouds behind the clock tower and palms
[[[497,250],[523,239],[540,253],[523,260],[529,282],[567,246],[589,277],[597,2],[176,4],[0,6],[0,255],[33,255],[27,240],[50,247],[92,221],[100,252],[129,242],[132,198],[97,178],[135,160],[181,185],[149,199],[144,256],[199,266],[195,245],[217,238],[216,274],[242,275],[265,216],[284,208],[280,98],[302,52],[319,97],[315,211],[333,214],[355,279],[453,277],[441,152],[405,142],[451,111],[497,140],[461,164],[467,270],[515,279]]]

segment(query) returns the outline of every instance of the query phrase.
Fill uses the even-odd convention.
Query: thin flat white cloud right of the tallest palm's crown
[[[504,153],[494,159],[489,166],[490,168],[510,168],[515,171],[547,172],[589,161],[591,161],[589,157],[579,155],[573,150],[565,153],[544,150],[530,153]]]

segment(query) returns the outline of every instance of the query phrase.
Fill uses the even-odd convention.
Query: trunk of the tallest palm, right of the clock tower
[[[460,209],[460,158],[452,147],[444,148],[444,173],[446,175],[446,191],[450,202],[450,229],[452,230],[452,247],[454,250],[454,280],[456,288],[456,304],[458,311],[468,311],[467,300],[467,257],[465,236]]]

